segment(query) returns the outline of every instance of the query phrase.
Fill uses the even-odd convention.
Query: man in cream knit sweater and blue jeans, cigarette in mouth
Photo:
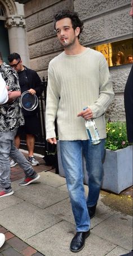
[[[95,215],[103,177],[105,110],[114,97],[109,69],[103,54],[79,43],[83,23],[76,12],[64,10],[54,16],[57,37],[64,52],[48,67],[46,138],[56,144],[55,118],[61,160],[76,221],[76,235],[70,250],[85,246],[90,234],[90,217]],[[86,110],[83,110],[86,108]],[[101,142],[93,145],[85,120],[95,118]],[[86,159],[89,193],[83,187],[82,153]]]

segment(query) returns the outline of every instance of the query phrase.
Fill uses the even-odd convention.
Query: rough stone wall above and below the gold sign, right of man
[[[94,46],[132,37],[130,0],[74,1],[74,10],[84,22],[81,36],[83,45]],[[115,97],[106,116],[111,120],[125,120],[123,92],[131,65],[110,67]]]

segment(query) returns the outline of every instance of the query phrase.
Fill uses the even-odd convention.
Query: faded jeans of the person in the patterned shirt
[[[11,185],[10,180],[10,157],[24,169],[25,176],[34,173],[32,165],[26,160],[21,151],[14,146],[14,137],[17,129],[14,131],[0,132],[0,187],[5,189]]]

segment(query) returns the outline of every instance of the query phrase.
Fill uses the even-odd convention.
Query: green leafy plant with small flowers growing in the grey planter
[[[107,122],[107,139],[105,148],[109,150],[120,150],[130,145],[127,141],[127,131],[125,122]]]

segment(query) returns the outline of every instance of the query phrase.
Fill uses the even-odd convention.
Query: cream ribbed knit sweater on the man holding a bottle
[[[86,48],[78,55],[65,52],[50,61],[46,101],[46,139],[86,140],[85,120],[77,114],[92,110],[100,138],[106,137],[105,110],[114,97],[108,64],[100,52]]]

